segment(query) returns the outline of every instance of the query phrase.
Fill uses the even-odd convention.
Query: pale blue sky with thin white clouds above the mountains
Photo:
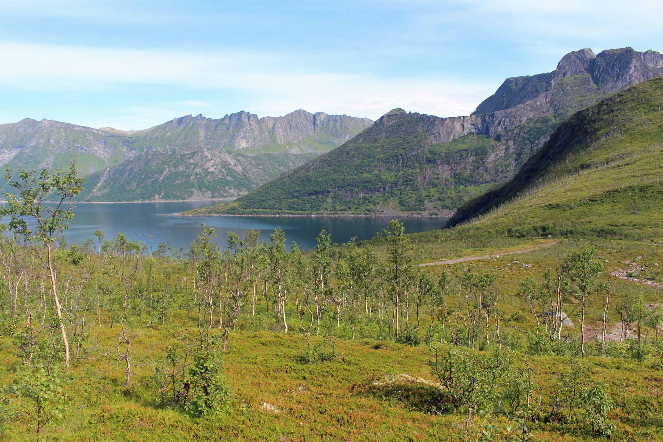
[[[0,123],[467,115],[564,54],[663,52],[661,1],[0,0]]]

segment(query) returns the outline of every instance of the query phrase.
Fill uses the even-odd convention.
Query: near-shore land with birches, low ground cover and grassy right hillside
[[[312,250],[68,245],[76,170],[7,171],[2,437],[663,439],[662,81],[573,117],[603,129],[479,219]]]

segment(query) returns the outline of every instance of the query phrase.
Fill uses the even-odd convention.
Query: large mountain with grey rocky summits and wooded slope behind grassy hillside
[[[254,192],[190,213],[451,215],[509,180],[573,112],[661,74],[658,52],[571,52],[553,72],[505,80],[467,117],[394,109]]]

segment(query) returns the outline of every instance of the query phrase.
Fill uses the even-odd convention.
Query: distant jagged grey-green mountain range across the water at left
[[[0,165],[8,164],[12,169],[19,164],[23,168],[43,168],[46,164],[62,167],[74,156],[81,174],[93,174],[82,195],[92,201],[166,199],[162,195],[180,195],[177,199],[227,197],[253,190],[313,158],[311,153],[331,150],[371,123],[365,118],[313,114],[302,109],[283,117],[258,118],[245,111],[221,119],[187,115],[141,131],[23,119],[0,125]],[[164,163],[164,158],[180,158],[187,165],[178,163],[181,170],[174,174],[174,164]],[[214,165],[195,164],[197,160]],[[149,168],[140,171],[139,164]],[[220,170],[227,173],[215,176]],[[97,171],[102,173],[95,175]],[[182,178],[188,172],[192,176]],[[159,192],[133,192],[132,183],[148,175],[158,180],[154,188]],[[114,177],[121,180],[115,181]]]

